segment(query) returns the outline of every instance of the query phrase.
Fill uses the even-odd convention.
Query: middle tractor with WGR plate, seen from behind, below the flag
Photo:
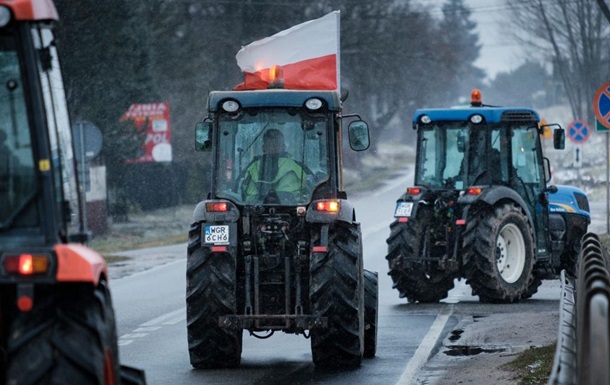
[[[369,133],[341,103],[334,91],[210,93],[196,145],[211,153],[211,191],[188,244],[195,368],[238,366],[243,330],[302,334],[322,367],[375,355],[377,273],[364,270],[360,224],[342,188],[342,122],[351,121],[354,150],[368,148]]]

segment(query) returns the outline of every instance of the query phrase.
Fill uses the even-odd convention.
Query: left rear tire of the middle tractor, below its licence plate
[[[221,328],[218,317],[237,314],[236,257],[202,247],[201,225],[191,226],[186,269],[186,321],[191,365],[231,368],[241,362],[241,330]]]

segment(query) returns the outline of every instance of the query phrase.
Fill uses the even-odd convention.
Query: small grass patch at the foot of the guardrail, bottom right
[[[530,348],[502,368],[517,373],[519,385],[545,385],[553,369],[555,347],[556,344]]]

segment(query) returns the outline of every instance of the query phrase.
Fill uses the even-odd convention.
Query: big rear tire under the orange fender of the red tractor
[[[38,286],[30,312],[11,312],[7,384],[119,384],[114,311],[104,282]]]

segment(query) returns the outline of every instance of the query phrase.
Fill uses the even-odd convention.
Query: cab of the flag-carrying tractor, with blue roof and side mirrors
[[[341,194],[341,101],[333,91],[218,91],[197,125],[196,148],[212,150],[211,196],[237,205],[306,205]],[[368,147],[362,120],[348,128]]]

